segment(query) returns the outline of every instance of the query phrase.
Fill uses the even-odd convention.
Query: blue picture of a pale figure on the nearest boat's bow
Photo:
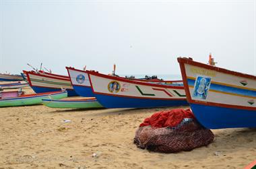
[[[193,90],[193,98],[205,100],[210,89],[211,77],[197,76]]]

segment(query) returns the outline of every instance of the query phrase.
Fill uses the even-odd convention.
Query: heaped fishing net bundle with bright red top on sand
[[[141,149],[174,153],[212,143],[214,134],[201,126],[190,109],[156,112],[139,125],[134,143]]]

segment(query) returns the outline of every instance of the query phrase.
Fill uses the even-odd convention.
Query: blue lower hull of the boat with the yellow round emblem
[[[108,96],[95,94],[96,99],[105,108],[153,108],[166,106],[189,105],[187,100],[152,100],[144,98],[126,98],[120,96]]]

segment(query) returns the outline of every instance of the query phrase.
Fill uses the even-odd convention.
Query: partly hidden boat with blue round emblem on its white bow
[[[75,69],[73,67],[66,67],[67,72],[69,73],[69,79],[73,86],[75,92],[82,97],[94,97],[94,93],[92,92],[92,87],[90,84],[90,80],[88,77],[88,72]],[[129,77],[119,77],[121,79],[129,79]],[[134,81],[142,81],[146,83],[154,83],[160,85],[171,85],[171,86],[183,86],[182,80],[176,81],[164,81],[159,79],[130,79]]]

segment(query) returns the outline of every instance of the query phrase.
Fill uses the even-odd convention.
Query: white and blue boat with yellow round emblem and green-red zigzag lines
[[[129,80],[87,71],[94,96],[106,108],[150,108],[187,105],[183,86]]]

